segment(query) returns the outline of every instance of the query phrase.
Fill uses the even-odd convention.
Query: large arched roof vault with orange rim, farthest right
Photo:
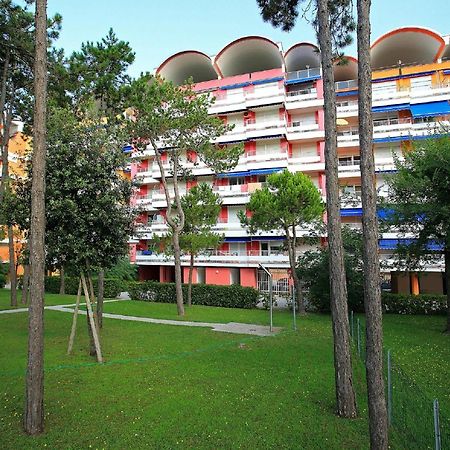
[[[371,46],[372,68],[436,62],[445,47],[439,33],[422,27],[403,27],[380,36]]]

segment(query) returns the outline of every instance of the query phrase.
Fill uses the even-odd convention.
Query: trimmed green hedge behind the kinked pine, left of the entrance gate
[[[187,284],[183,284],[183,296],[187,299]],[[128,292],[132,300],[160,303],[176,303],[175,283],[144,281],[129,283]],[[212,284],[192,285],[192,304],[222,306],[224,308],[254,308],[258,303],[259,293],[256,289]]]

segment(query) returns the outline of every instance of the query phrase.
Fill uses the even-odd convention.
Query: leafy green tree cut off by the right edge
[[[444,130],[445,131],[445,130]],[[404,160],[395,157],[397,172],[386,177],[388,197],[383,202],[385,225],[394,227],[405,240],[397,255],[406,267],[444,255],[447,286],[447,326],[450,332],[450,135],[414,142]],[[441,250],[432,251],[430,244]]]

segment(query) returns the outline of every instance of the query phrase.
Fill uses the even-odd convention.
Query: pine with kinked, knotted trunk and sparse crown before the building
[[[181,156],[195,151],[198,159],[217,173],[235,167],[243,151],[242,146],[221,148],[214,144],[232,127],[208,114],[212,103],[211,97],[197,95],[189,82],[178,87],[160,78],[144,76],[136,80],[131,89],[131,137],[139,150],[145,150],[147,146],[153,149],[161,173],[167,203],[166,218],[172,235],[179,315],[184,315],[180,233],[186,221],[178,183],[190,174]],[[162,154],[168,157],[168,170],[163,166]],[[169,179],[173,183],[173,196]],[[172,207],[172,197],[176,209]]]

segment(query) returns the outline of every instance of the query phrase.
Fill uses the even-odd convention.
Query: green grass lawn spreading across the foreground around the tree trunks
[[[4,296],[0,291],[1,305]],[[72,296],[58,297],[48,296],[46,304],[74,302]],[[176,318],[175,309],[131,301],[105,304],[107,312],[155,318]],[[46,432],[31,438],[21,431],[27,313],[0,315],[0,447],[368,448],[362,365],[356,364],[355,376],[360,418],[339,419],[333,414],[330,318],[302,317],[294,333],[291,317],[276,311],[275,325],[286,331],[268,338],[105,319],[106,363],[100,366],[86,352],[85,317],[78,323],[74,354],[67,356],[72,317],[46,311]],[[397,324],[389,317],[386,341],[403,348],[405,342],[431,342],[432,334],[446,357],[440,368],[449,373],[448,342],[438,332],[442,318],[414,318],[421,326],[418,331],[414,324],[416,332],[409,336],[407,321]],[[188,309],[185,320],[267,324],[268,312],[197,306]],[[408,360],[406,351],[403,357]],[[412,368],[418,366],[411,361]]]

